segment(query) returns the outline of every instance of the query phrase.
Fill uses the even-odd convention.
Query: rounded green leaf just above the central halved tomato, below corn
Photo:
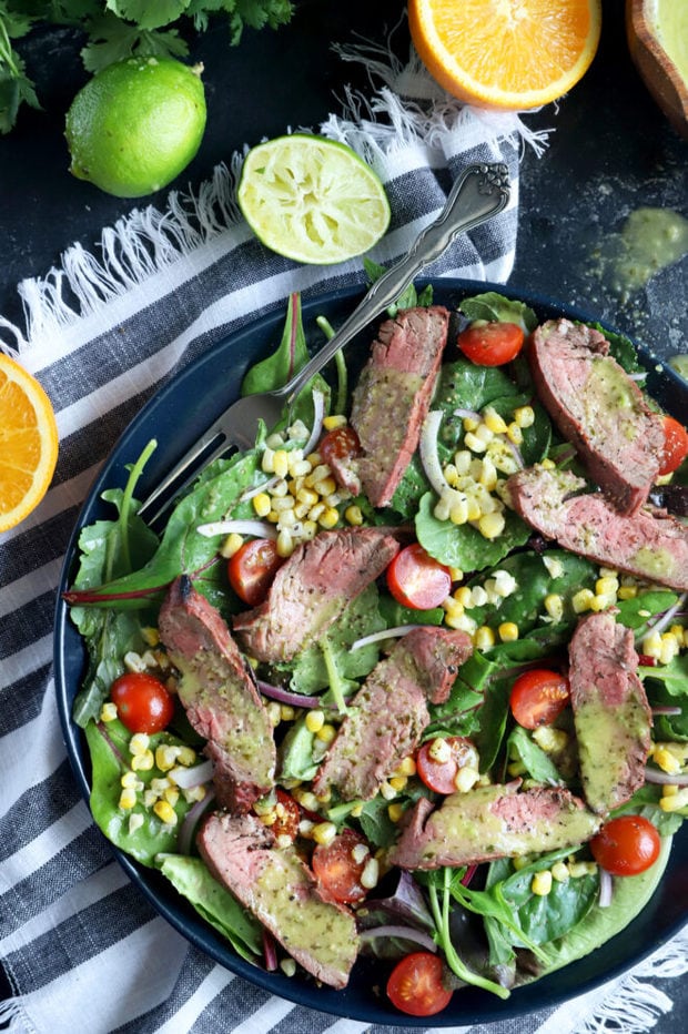
[[[504,514],[506,524],[502,535],[487,539],[473,525],[455,525],[451,520],[438,520],[433,510],[434,493],[421,499],[415,518],[416,538],[432,557],[465,571],[482,571],[498,564],[530,537],[528,526],[513,510]]]

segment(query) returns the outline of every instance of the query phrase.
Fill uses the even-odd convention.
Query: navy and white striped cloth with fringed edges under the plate
[[[350,113],[348,121],[332,118],[321,129],[364,153],[387,185],[393,223],[372,257],[387,263],[402,254],[465,164],[500,160],[512,178],[508,209],[432,272],[505,282],[516,241],[519,120],[462,111],[446,98],[405,107],[388,88],[367,111],[368,120]],[[0,1003],[0,1022],[12,1031],[383,1030],[271,997],[158,916],[93,825],[55,706],[52,618],[62,556],[120,433],[183,366],[255,316],[284,306],[290,292],[307,295],[363,280],[360,262],[313,268],[269,254],[235,209],[239,161],[219,168],[193,196],[171,195],[166,211],[135,211],[105,230],[98,257],[73,246],[59,271],[22,284],[24,327],[0,318],[0,347],[18,349],[45,387],[61,443],[45,499],[0,536],[0,961],[13,991]],[[685,946],[660,972],[678,972],[682,956]],[[609,995],[627,1004],[629,992],[619,986],[530,1017],[528,1030],[581,1031]],[[647,1025],[634,1030],[648,1030],[670,1002],[639,986]],[[492,1034],[516,1028],[524,1030],[523,1021],[489,1026]],[[384,1030],[401,1032],[403,1022]]]

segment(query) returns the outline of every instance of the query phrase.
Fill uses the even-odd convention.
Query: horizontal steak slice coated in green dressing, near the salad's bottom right
[[[422,798],[388,861],[402,869],[469,865],[589,840],[601,820],[560,787],[518,792],[519,780],[452,793],[433,811]]]

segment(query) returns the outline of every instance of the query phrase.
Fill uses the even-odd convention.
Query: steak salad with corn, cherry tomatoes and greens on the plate
[[[375,275],[380,271],[368,267]],[[326,321],[321,330],[331,334]],[[242,393],[307,358],[299,296]],[[688,813],[688,433],[629,342],[432,286],[161,533],[81,530],[105,835],[244,960],[508,997],[644,908]]]

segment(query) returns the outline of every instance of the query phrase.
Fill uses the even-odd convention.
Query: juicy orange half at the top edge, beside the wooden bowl
[[[409,0],[418,55],[477,108],[539,108],[575,85],[599,42],[601,0]]]

